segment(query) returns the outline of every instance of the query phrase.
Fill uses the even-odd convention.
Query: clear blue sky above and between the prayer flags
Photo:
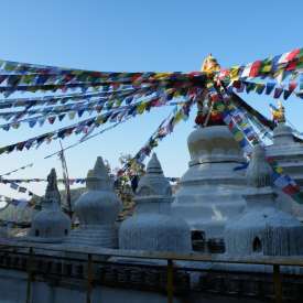
[[[199,71],[208,53],[228,67],[303,46],[301,0],[2,0],[0,8],[0,58],[19,62],[102,72],[188,72]],[[244,97],[269,116],[271,98]],[[285,106],[289,119],[303,131],[303,100],[290,98]],[[140,116],[69,150],[71,177],[86,176],[97,155],[117,166],[119,154],[137,152],[167,113],[159,109]],[[193,125],[193,118],[178,125],[155,150],[169,176],[180,176],[187,167],[186,137]],[[0,145],[58,127],[1,130]],[[11,177],[45,177],[51,167],[61,176],[57,159],[43,160],[57,149],[54,141],[39,150],[2,154],[0,174],[33,161],[32,169]],[[42,194],[45,184],[26,186]],[[1,185],[0,193],[15,196],[7,187]]]

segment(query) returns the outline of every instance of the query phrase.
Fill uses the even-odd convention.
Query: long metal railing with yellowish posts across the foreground
[[[117,250],[102,249],[97,247],[72,247],[67,245],[46,245],[33,244],[15,240],[0,239],[0,252],[19,253],[28,258],[28,286],[26,286],[26,303],[30,303],[32,293],[33,269],[32,262],[35,257],[50,257],[50,252],[56,252],[56,256],[50,258],[85,261],[87,263],[86,274],[86,302],[91,303],[93,292],[93,266],[97,263],[101,257],[119,257],[119,258],[136,258],[136,259],[154,259],[166,261],[166,295],[167,302],[173,303],[174,297],[174,261],[199,261],[212,263],[229,263],[229,264],[261,264],[272,267],[272,277],[274,285],[275,303],[282,302],[282,282],[281,282],[281,266],[303,267],[303,258],[299,257],[249,257],[249,258],[232,258],[223,255],[199,255],[199,253],[173,253],[173,252],[154,252],[154,251],[134,251],[134,250]],[[62,252],[62,256],[58,256]],[[76,257],[66,257],[66,253],[76,253]],[[102,261],[106,262],[106,261]]]

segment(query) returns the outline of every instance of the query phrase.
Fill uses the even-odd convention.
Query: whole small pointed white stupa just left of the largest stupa
[[[172,192],[155,154],[137,191],[137,207],[132,217],[122,221],[119,248],[149,251],[191,251],[188,225],[169,216]]]

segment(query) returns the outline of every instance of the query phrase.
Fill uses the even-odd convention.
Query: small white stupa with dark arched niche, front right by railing
[[[303,226],[277,208],[272,169],[263,148],[257,145],[247,170],[250,192],[246,212],[225,229],[226,252],[235,256],[295,256],[303,253]]]

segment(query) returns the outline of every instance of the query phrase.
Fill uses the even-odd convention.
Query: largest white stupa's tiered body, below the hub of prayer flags
[[[223,238],[225,224],[245,208],[242,152],[226,126],[197,128],[187,139],[190,169],[182,176],[172,213],[205,237]]]

